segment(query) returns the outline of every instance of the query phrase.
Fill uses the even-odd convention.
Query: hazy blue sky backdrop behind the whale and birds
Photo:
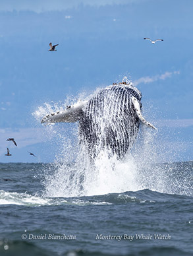
[[[52,162],[57,135],[32,113],[45,102],[71,104],[124,76],[142,92],[157,143],[171,155],[177,150],[173,160],[193,160],[192,12],[191,0],[3,1],[0,162]],[[47,51],[49,42],[57,51]],[[74,129],[59,125],[64,133]],[[7,146],[13,156],[5,156]]]

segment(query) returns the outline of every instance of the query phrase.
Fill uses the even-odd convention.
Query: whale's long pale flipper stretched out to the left
[[[79,121],[82,108],[84,107],[86,102],[87,101],[79,101],[76,104],[67,107],[67,110],[48,114],[45,117],[43,117],[41,123],[74,123],[76,121]]]

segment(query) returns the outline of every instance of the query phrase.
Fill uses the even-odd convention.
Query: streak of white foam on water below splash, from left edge
[[[132,195],[130,195],[132,193]],[[135,192],[109,193],[91,197],[42,197],[28,193],[16,193],[0,190],[0,205],[23,205],[26,207],[41,207],[45,205],[118,205],[120,203],[155,203],[155,200],[146,199],[143,195],[133,195]],[[136,192],[137,193],[137,192]],[[155,196],[155,195],[154,195]],[[153,197],[153,194],[152,194]]]

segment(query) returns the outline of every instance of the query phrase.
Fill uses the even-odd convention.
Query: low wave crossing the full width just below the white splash
[[[126,203],[190,203],[191,197],[169,195],[144,189],[124,193],[110,193],[93,195],[90,197],[41,197],[28,193],[0,191],[0,205],[24,205],[26,207],[40,207],[44,205],[120,205]],[[188,202],[187,202],[188,201]]]

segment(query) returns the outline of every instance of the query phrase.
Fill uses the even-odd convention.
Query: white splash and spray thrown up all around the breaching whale
[[[82,94],[78,100],[85,100],[85,95]],[[34,116],[40,121],[47,113],[63,110],[67,102],[68,105],[74,103],[68,98],[65,104],[45,104]],[[175,193],[168,189],[172,181],[168,180],[164,170],[159,167],[152,169],[153,164],[161,162],[155,145],[156,134],[152,129],[141,125],[136,143],[123,160],[117,160],[115,156],[109,158],[108,148],[97,148],[99,154],[91,161],[85,146],[78,144],[78,124],[70,130],[69,125],[60,123],[45,127],[47,134],[53,136],[53,144],[57,144],[55,162],[44,173],[45,197],[104,195],[140,189]],[[180,193],[187,194],[184,191]]]

